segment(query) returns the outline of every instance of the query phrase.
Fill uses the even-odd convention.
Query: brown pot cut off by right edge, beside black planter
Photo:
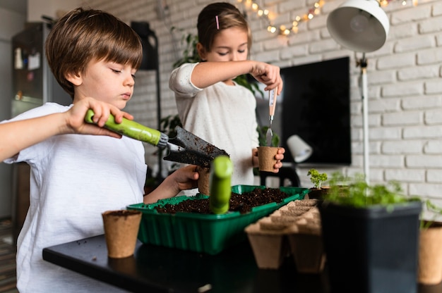
[[[442,281],[442,223],[420,230],[418,282],[436,285]]]

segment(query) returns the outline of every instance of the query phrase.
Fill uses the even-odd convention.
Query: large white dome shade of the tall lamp
[[[386,42],[390,23],[376,0],[349,0],[327,18],[331,37],[347,49],[371,52]]]

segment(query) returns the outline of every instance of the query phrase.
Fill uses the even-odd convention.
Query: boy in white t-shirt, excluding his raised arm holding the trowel
[[[87,96],[119,109],[133,94],[142,58],[131,27],[109,13],[77,8],[52,28],[49,67],[76,105]],[[47,103],[13,120],[68,111]],[[26,292],[117,292],[119,289],[42,260],[42,249],[103,233],[101,213],[172,197],[196,186],[195,166],[177,170],[143,199],[143,144],[128,137],[56,135],[5,160],[26,162],[30,208],[18,237],[17,287]]]

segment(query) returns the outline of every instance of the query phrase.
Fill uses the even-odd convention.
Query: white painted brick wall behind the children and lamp
[[[173,25],[184,32],[196,32],[196,18],[208,0],[169,0],[167,18],[157,15],[157,0],[88,0],[88,6],[114,13],[130,23],[148,21],[160,39],[160,80],[162,116],[176,113],[174,97],[167,85],[172,63],[180,56],[179,32],[169,32]],[[231,0],[237,4],[237,0]],[[309,23],[301,23],[297,35],[277,37],[267,32],[267,23],[249,13],[253,32],[252,58],[281,67],[350,56],[352,75],[352,151],[349,168],[323,168],[321,172],[343,170],[363,172],[362,101],[359,68],[353,52],[342,49],[330,38],[325,22],[328,13],[343,0],[325,0],[322,14]],[[418,6],[402,6],[393,1],[384,8],[390,20],[390,34],[369,59],[369,137],[371,181],[400,180],[408,194],[442,199],[442,3],[419,1]],[[408,1],[411,2],[411,1]],[[256,0],[267,8],[275,24],[290,26],[294,16],[306,13],[313,1]],[[250,12],[250,11],[249,11]],[[360,56],[357,56],[358,58]],[[139,72],[133,101],[126,108],[136,120],[156,127],[155,73]],[[155,148],[148,148],[148,155]],[[156,163],[148,156],[148,163]],[[299,168],[302,185],[310,187],[308,168]]]

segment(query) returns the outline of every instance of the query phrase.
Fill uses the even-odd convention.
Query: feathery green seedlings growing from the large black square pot
[[[397,181],[390,181],[386,185],[368,185],[364,175],[350,178],[337,173],[333,174],[330,180],[330,194],[327,199],[335,204],[357,208],[379,205],[386,206],[389,210],[393,210],[395,204],[420,201],[419,197],[407,197],[402,194],[402,188]]]

